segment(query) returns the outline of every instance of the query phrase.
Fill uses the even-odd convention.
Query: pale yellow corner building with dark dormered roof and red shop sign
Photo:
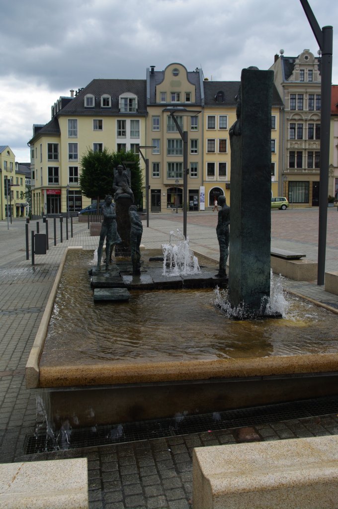
[[[33,214],[76,215],[89,205],[79,188],[82,155],[104,148],[137,153],[146,142],[146,114],[145,80],[94,79],[61,97],[29,142]]]

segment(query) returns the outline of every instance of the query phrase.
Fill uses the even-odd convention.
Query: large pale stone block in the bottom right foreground
[[[333,509],[338,436],[193,450],[193,509]]]

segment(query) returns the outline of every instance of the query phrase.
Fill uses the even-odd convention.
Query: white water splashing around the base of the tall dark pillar
[[[288,316],[290,304],[286,299],[283,286],[281,284],[283,277],[279,274],[274,276],[272,270],[270,272],[270,297],[263,300],[261,309],[265,308],[264,316],[281,315],[283,318]],[[228,289],[220,290],[218,287],[214,290],[214,305],[222,309],[228,318],[250,319],[250,310],[245,305],[232,307],[229,302]],[[252,318],[254,318],[252,316]]]

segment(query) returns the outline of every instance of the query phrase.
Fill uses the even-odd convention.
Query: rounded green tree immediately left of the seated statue
[[[104,148],[102,151],[87,149],[81,157],[82,171],[80,188],[87,198],[103,200],[112,192],[114,180],[112,153]]]

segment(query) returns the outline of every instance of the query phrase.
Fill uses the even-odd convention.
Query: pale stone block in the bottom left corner
[[[87,458],[0,464],[2,509],[88,509]]]

